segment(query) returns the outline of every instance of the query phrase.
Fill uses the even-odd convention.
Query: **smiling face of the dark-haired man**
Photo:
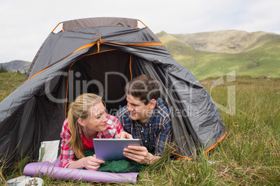
[[[139,120],[146,123],[148,119],[153,115],[153,107],[151,108],[151,103],[145,105],[140,101],[139,97],[134,97],[130,94],[126,96],[127,109],[130,112],[130,118],[132,120]]]

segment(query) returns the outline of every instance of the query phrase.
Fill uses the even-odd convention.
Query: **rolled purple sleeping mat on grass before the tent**
[[[137,183],[138,172],[111,173],[102,171],[88,171],[84,169],[67,169],[59,167],[60,158],[54,162],[34,162],[24,167],[25,176],[48,176],[61,180],[97,181],[100,183]]]

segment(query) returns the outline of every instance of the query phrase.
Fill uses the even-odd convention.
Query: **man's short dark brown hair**
[[[141,102],[147,105],[150,100],[157,100],[159,97],[159,84],[150,76],[142,74],[125,85],[125,93],[139,98]]]

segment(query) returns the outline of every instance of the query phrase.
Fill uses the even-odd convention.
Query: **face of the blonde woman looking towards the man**
[[[87,135],[89,137],[94,137],[98,132],[107,129],[107,112],[105,111],[102,101],[95,103],[95,105],[89,108],[88,112],[90,116],[87,123],[85,124],[85,121],[82,123],[84,123]]]

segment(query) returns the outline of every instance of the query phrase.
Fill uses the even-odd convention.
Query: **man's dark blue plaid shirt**
[[[127,105],[118,110],[116,117],[123,124],[124,130],[134,138],[140,139],[141,146],[146,146],[149,152],[155,151],[155,155],[162,156],[164,149],[169,147],[173,130],[169,109],[162,99],[157,99],[157,105],[145,129],[130,118]]]

